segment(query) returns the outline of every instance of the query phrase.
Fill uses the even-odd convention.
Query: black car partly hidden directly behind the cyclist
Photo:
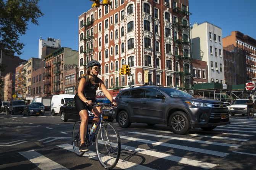
[[[108,115],[109,110],[103,110],[103,111],[105,112],[104,119],[106,119],[106,121],[112,122],[113,118],[111,114]],[[89,118],[93,116],[94,114],[89,111]],[[80,119],[79,113],[77,111],[77,108],[75,106],[75,102],[73,99],[68,100],[68,102],[66,102],[63,106],[60,107],[60,117],[61,117],[61,121],[63,122],[68,121],[68,119],[75,119],[75,120]],[[89,122],[92,122],[92,120],[90,120]]]

